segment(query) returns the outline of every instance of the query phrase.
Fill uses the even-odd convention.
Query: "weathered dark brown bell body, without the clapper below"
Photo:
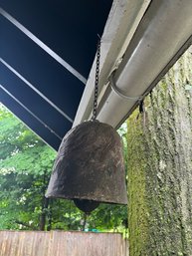
[[[46,197],[126,204],[122,143],[106,124],[85,122],[63,138]]]

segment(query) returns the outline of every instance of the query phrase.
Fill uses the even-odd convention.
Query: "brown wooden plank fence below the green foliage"
[[[118,233],[0,231],[0,256],[127,256]]]

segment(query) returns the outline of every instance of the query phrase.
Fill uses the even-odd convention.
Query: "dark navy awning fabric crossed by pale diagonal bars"
[[[0,102],[58,149],[111,0],[0,0]]]

